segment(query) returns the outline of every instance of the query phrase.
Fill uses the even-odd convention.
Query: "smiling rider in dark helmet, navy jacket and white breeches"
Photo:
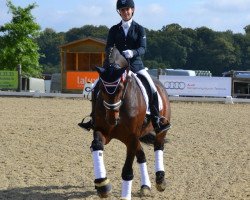
[[[120,53],[130,60],[131,71],[146,78],[150,85],[152,96],[152,103],[150,105],[151,122],[155,132],[160,133],[166,130],[168,125],[162,123],[163,117],[159,115],[157,89],[141,59],[141,56],[145,54],[146,50],[145,29],[133,20],[135,11],[133,0],[118,0],[116,3],[116,9],[122,20],[119,24],[112,26],[109,30],[106,44],[106,55],[108,55],[107,52],[109,52],[110,48],[116,46]],[[93,117],[93,113],[91,116]],[[86,123],[82,122],[79,125],[82,128],[90,130],[93,128],[93,120]]]

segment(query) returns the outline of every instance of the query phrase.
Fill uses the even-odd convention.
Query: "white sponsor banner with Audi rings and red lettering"
[[[181,96],[231,96],[231,77],[166,76],[159,80],[169,95]]]

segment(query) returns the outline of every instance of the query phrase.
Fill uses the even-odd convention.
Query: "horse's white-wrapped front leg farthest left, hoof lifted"
[[[105,138],[99,131],[94,132],[94,140],[91,144],[92,159],[94,163],[95,189],[101,198],[106,198],[111,192],[111,184],[107,179],[103,160]]]

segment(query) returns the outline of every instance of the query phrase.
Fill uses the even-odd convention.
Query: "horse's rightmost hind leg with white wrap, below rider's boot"
[[[163,163],[163,150],[165,143],[166,133],[161,133],[156,136],[154,143],[154,152],[155,152],[155,175],[156,175],[156,188],[158,191],[162,192],[166,188],[165,180],[165,170]]]

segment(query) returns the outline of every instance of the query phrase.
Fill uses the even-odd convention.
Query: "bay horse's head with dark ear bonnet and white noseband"
[[[126,67],[110,64],[107,68],[96,69],[100,75],[100,94],[106,110],[105,120],[110,125],[117,125],[120,119],[119,109],[126,93]]]

